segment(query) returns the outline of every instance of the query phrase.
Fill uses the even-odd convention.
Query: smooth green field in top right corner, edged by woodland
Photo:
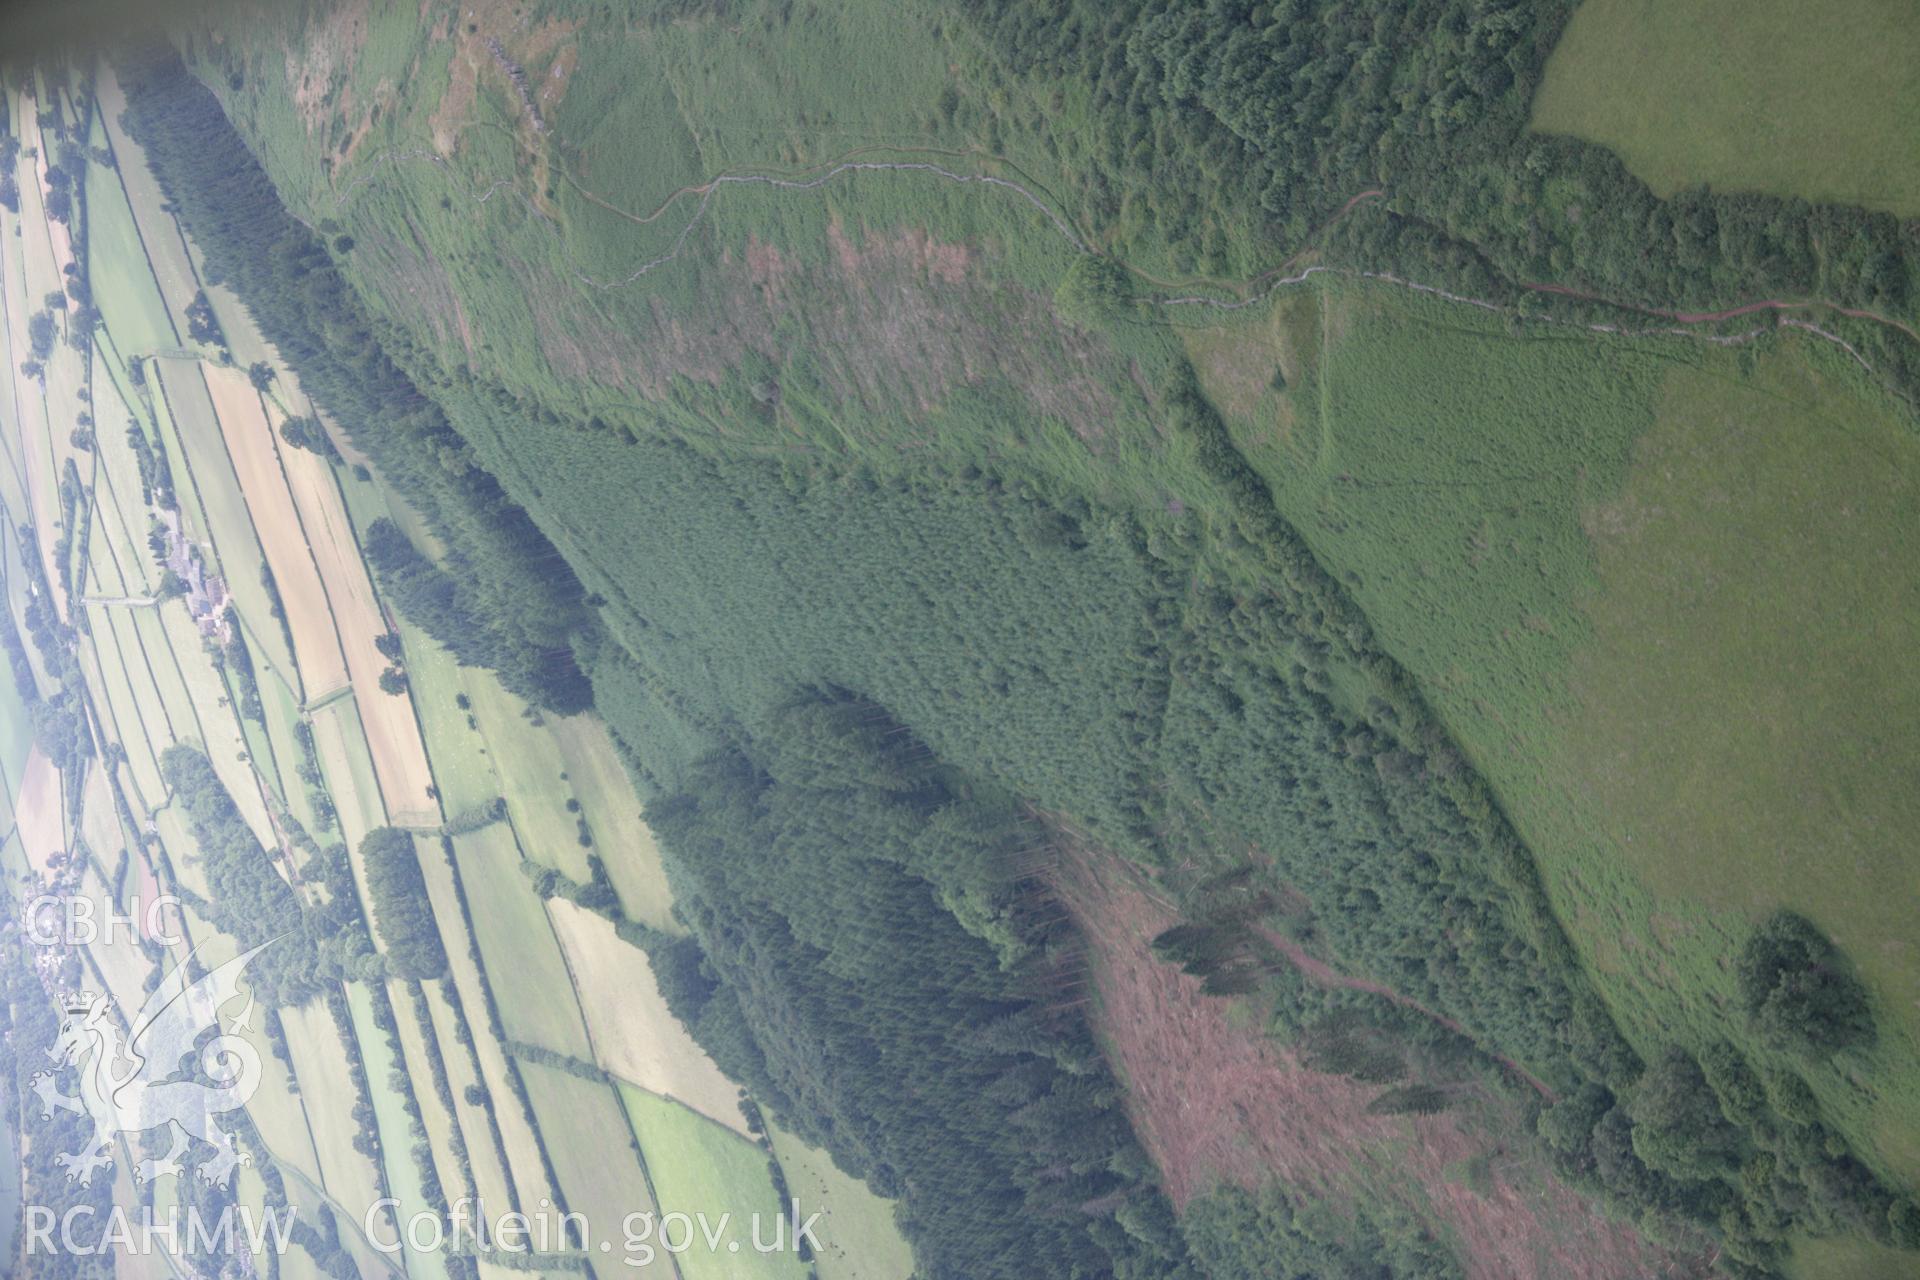
[[[1663,196],[1920,213],[1920,23],[1907,0],[1586,0],[1534,127],[1613,148]]]

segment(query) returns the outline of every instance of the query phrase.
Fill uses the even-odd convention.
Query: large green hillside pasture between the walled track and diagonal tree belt
[[[1622,1025],[1741,1036],[1724,960],[1807,913],[1897,1029],[1870,1075],[1814,1082],[1912,1178],[1910,816],[1885,785],[1912,768],[1910,420],[1812,344],[1515,340],[1379,292],[1309,317],[1340,336],[1246,403],[1248,453],[1486,770]],[[1290,359],[1261,324],[1208,349]]]

